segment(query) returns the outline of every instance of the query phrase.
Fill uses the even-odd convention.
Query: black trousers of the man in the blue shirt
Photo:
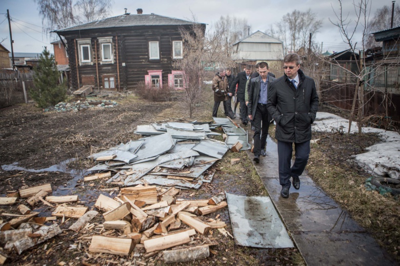
[[[257,104],[253,117],[254,126],[254,155],[260,155],[267,142],[270,115],[266,105]]]

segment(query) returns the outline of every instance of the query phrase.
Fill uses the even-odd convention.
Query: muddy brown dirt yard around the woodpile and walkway
[[[92,207],[99,193],[115,196],[110,192],[101,192],[101,189],[112,187],[105,181],[93,181],[83,183],[86,169],[93,163],[86,157],[95,151],[100,151],[137,139],[141,136],[134,134],[139,124],[149,124],[155,121],[211,121],[213,101],[211,93],[205,95],[205,100],[197,107],[195,117],[189,118],[184,107],[179,101],[163,103],[147,102],[134,96],[112,98],[118,106],[107,109],[88,109],[79,112],[48,112],[44,113],[33,104],[17,105],[0,109],[0,196],[4,197],[7,191],[18,190],[23,186],[36,186],[43,183],[51,183],[53,194],[78,195],[79,204]],[[219,110],[222,116],[222,110]],[[396,227],[399,223],[400,208],[398,199],[383,197],[374,192],[367,192],[362,188],[368,174],[361,168],[351,163],[350,156],[362,152],[365,147],[378,141],[376,136],[368,136],[363,139],[348,141],[342,136],[332,134],[321,135],[321,146],[313,147],[308,171],[310,175],[317,176],[317,182],[330,193],[343,208],[358,222],[365,216],[369,216],[369,222],[361,222],[371,231],[375,239],[394,255],[400,262],[399,233]],[[350,148],[349,148],[350,147]],[[337,150],[340,149],[346,152]],[[230,164],[231,158],[241,158],[238,165]],[[315,166],[318,167],[315,169]],[[352,171],[345,171],[351,167]],[[44,170],[46,168],[50,168]],[[14,170],[12,170],[14,169]],[[39,171],[41,170],[42,171]],[[336,176],[321,178],[324,174],[319,171],[333,169],[338,172]],[[36,172],[34,171],[36,170]],[[204,199],[218,192],[231,192],[239,195],[267,195],[257,176],[251,160],[245,152],[233,153],[228,151],[225,157],[214,164],[215,171],[211,183],[204,183],[201,189],[181,191],[179,197],[186,199]],[[341,185],[349,193],[337,193],[332,183],[341,173],[346,178],[351,178],[354,185],[349,187]],[[349,183],[346,179],[344,184]],[[336,183],[337,185],[337,183]],[[373,198],[374,202],[381,202],[382,208],[391,206],[390,211],[379,209],[378,214],[382,219],[388,219],[389,213],[391,226],[384,226],[381,218],[373,218],[377,210],[374,208],[365,210],[366,207],[356,208],[351,200],[355,195],[351,191],[362,191],[363,197]],[[358,193],[358,192],[357,192]],[[110,195],[111,194],[111,195]],[[344,195],[343,195],[344,194]],[[342,196],[343,195],[343,196]],[[357,194],[358,195],[358,194]],[[358,202],[358,200],[356,201]],[[372,203],[374,203],[372,202]],[[382,203],[383,202],[383,203]],[[363,203],[364,204],[364,203]],[[364,206],[364,205],[363,205]],[[19,213],[15,206],[1,206],[2,213]],[[54,208],[44,204],[38,204],[35,211],[41,212],[39,216],[51,216]],[[225,221],[227,231],[232,234],[228,209],[206,215],[207,218],[220,216]],[[394,217],[394,218],[393,218]],[[5,221],[12,217],[1,216]],[[99,215],[92,223],[102,223],[103,216]],[[94,232],[81,231],[75,233],[66,230],[74,222],[67,219],[60,224],[63,233],[42,244],[36,245],[21,255],[14,251],[2,251],[8,259],[6,265],[57,265],[61,262],[67,265],[163,265],[161,253],[145,256],[145,250],[135,249],[129,257],[89,253],[90,235]],[[58,223],[61,223],[58,220]],[[380,228],[380,229],[379,229]],[[212,243],[210,257],[188,265],[304,265],[304,261],[296,249],[254,249],[235,245],[234,240],[224,236],[217,230],[212,230],[207,236],[196,237],[193,244],[203,242]],[[86,263],[86,264],[85,264]],[[59,265],[62,265],[59,264]]]

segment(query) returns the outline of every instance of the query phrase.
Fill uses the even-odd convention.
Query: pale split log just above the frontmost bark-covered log
[[[144,241],[146,252],[153,252],[157,250],[164,250],[177,245],[182,245],[190,242],[190,237],[187,232],[157,237]]]

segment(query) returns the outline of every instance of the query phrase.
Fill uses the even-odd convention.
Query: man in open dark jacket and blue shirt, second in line
[[[259,162],[259,156],[266,156],[269,121],[271,116],[267,110],[268,90],[275,78],[268,75],[268,64],[261,62],[258,66],[259,76],[250,80],[249,86],[249,119],[254,125],[254,161]]]

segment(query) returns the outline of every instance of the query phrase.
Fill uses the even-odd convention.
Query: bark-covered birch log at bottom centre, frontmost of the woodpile
[[[163,257],[165,263],[179,263],[193,260],[201,260],[210,256],[208,245],[199,245],[198,247],[186,248],[181,250],[165,250]]]

